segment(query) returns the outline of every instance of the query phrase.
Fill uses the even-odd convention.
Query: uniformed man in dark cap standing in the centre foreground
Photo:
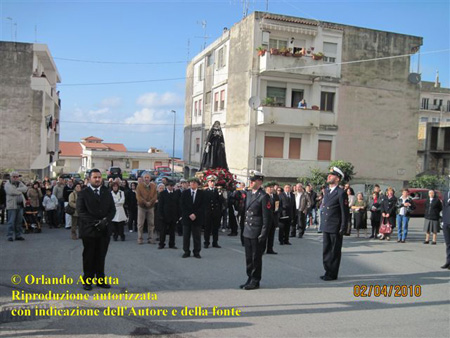
[[[253,172],[250,190],[245,197],[244,246],[248,279],[240,286],[244,290],[259,288],[262,272],[262,254],[272,217],[269,195],[262,189],[264,176]]]

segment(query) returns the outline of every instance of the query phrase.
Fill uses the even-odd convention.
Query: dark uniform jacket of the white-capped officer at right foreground
[[[348,223],[348,197],[344,189],[336,187],[332,193],[325,190],[321,213],[322,231],[337,234],[345,231]]]

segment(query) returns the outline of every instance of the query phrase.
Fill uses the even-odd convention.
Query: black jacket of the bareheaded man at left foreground
[[[100,196],[96,195],[90,187],[86,187],[78,193],[77,212],[80,238],[111,235],[109,225],[116,214],[116,207],[108,188],[101,186],[99,191]],[[105,217],[108,220],[108,230],[98,231],[94,224]]]

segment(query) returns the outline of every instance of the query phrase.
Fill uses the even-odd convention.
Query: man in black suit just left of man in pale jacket
[[[291,225],[294,227],[295,232],[295,196],[291,192],[291,186],[286,184],[284,186],[284,192],[279,195],[280,198],[280,221],[278,240],[280,245],[291,245],[289,242],[289,231]],[[295,234],[294,234],[295,237]]]

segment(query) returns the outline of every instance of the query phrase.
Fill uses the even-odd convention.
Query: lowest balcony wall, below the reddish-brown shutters
[[[312,168],[318,168],[322,172],[327,172],[329,166],[329,161],[261,158],[261,172],[268,177],[309,176]]]

